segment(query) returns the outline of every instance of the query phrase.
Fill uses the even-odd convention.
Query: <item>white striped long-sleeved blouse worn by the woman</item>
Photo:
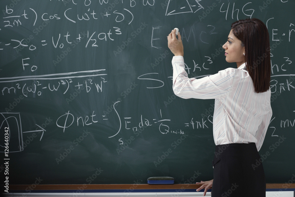
[[[216,145],[256,144],[259,151],[271,120],[271,90],[254,91],[253,81],[242,64],[201,79],[188,78],[182,56],[174,56],[173,91],[181,98],[215,99],[213,136]]]

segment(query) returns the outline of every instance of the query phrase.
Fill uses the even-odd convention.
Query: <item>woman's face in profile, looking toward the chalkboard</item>
[[[238,68],[245,63],[245,47],[242,46],[241,40],[237,39],[235,35],[232,34],[232,30],[230,30],[227,42],[222,48],[225,49],[225,60],[227,62],[236,62]]]

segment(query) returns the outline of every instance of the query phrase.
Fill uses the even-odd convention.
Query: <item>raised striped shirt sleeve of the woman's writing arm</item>
[[[182,56],[174,56],[173,92],[181,98],[219,99],[226,97],[233,84],[235,69],[228,68],[201,79],[189,78]]]

